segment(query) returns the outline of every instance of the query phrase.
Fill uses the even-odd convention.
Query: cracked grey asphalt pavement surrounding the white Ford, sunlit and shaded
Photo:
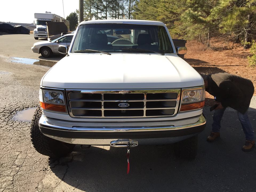
[[[0,35],[1,43],[8,39],[24,45],[20,52],[15,41],[8,49],[0,47],[0,192],[256,191],[256,150],[241,150],[245,138],[232,109],[223,117],[221,138],[208,143],[213,113],[205,107],[207,127],[199,134],[193,161],[176,159],[172,146],[138,146],[130,151],[127,175],[123,148],[76,146],[58,161],[37,153],[30,142],[30,122],[12,118],[17,111],[38,106],[40,80],[50,68],[11,62],[10,57],[38,59],[39,55],[28,53],[35,42],[33,35]],[[255,96],[249,116],[255,128]]]

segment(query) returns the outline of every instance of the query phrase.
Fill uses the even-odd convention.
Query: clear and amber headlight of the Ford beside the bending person
[[[205,89],[184,90],[182,93],[180,111],[201,109],[205,105]]]

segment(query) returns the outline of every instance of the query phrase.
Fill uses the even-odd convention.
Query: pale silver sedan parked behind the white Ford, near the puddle
[[[73,36],[74,34],[66,34],[52,41],[41,41],[34,43],[34,46],[31,47],[31,50],[34,53],[41,53],[41,55],[46,58],[53,54],[60,54],[58,52],[59,45],[67,45],[69,47]]]

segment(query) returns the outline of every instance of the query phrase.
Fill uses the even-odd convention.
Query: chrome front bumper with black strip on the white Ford
[[[200,133],[206,125],[203,114],[197,122],[179,126],[65,127],[63,120],[62,126],[58,122],[57,119],[42,115],[39,128],[47,137],[83,145],[110,145],[111,141],[117,139],[133,139],[138,141],[139,145],[176,143]]]

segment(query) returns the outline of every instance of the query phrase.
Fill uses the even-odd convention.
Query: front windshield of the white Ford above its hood
[[[165,27],[158,25],[81,25],[71,53],[82,53],[87,49],[111,53],[173,53]]]

